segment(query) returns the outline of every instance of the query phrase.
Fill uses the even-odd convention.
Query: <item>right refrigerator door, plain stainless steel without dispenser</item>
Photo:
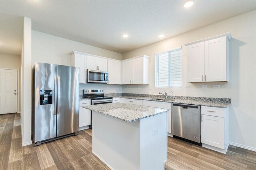
[[[79,131],[79,68],[58,65],[57,137]]]

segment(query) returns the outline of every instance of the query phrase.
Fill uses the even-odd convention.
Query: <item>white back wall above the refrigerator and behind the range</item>
[[[122,60],[122,54],[120,53],[32,30],[32,67],[35,62],[70,66],[71,57],[69,53],[71,51]],[[121,85],[80,84],[80,94],[83,93],[83,89],[97,88],[104,89],[105,93],[122,92]]]

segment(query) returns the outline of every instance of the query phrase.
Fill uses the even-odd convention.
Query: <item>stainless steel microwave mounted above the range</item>
[[[108,83],[108,71],[87,69],[88,83]]]

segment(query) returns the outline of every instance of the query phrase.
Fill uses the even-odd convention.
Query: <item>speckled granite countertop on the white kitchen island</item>
[[[124,103],[100,104],[82,107],[126,122],[144,119],[146,117],[168,111],[166,109]]]

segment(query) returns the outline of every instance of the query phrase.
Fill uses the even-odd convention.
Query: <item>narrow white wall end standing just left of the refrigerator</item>
[[[31,113],[32,113],[32,71],[31,71],[31,19],[24,17],[22,41],[22,111],[21,134],[22,146],[32,144],[31,141]]]

